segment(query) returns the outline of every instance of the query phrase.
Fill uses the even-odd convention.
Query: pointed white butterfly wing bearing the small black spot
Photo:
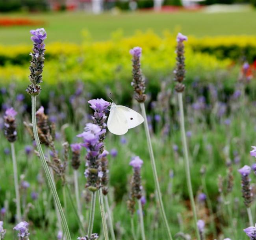
[[[143,116],[129,107],[117,105],[116,109],[118,113],[122,113],[125,116],[129,129],[137,127],[144,122]]]

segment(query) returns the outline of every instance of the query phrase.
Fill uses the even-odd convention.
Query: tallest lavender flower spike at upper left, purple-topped
[[[30,61],[30,82],[31,85],[28,86],[26,92],[32,96],[37,96],[41,92],[41,87],[39,84],[42,80],[42,72],[44,68],[45,61],[45,44],[46,31],[43,28],[38,28],[37,30],[31,30],[30,33],[33,35],[31,40],[33,41],[32,60]]]

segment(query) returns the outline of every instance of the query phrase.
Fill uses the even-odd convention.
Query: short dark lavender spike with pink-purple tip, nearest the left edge
[[[6,110],[4,115],[4,135],[9,142],[15,142],[17,140],[16,114],[17,112],[11,107]]]

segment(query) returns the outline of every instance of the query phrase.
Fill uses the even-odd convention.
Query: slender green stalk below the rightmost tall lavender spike
[[[186,179],[187,179],[187,188],[189,192],[189,199],[193,211],[193,219],[194,219],[194,227],[196,231],[197,239],[200,239],[200,234],[197,227],[197,212],[196,212],[196,206],[195,206],[195,200],[192,190],[192,184],[191,184],[191,177],[190,177],[190,169],[189,169],[189,157],[188,157],[188,151],[187,151],[187,140],[186,140],[186,133],[185,133],[185,124],[184,124],[184,111],[183,111],[183,101],[182,101],[182,93],[178,92],[178,102],[179,102],[179,109],[180,109],[180,128],[181,128],[181,137],[182,137],[182,145],[183,145],[183,151],[185,154],[185,172],[186,172]]]

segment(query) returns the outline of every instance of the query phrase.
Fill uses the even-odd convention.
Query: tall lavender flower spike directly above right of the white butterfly
[[[145,94],[145,78],[141,72],[141,53],[142,48],[134,47],[130,50],[132,55],[132,87],[134,88],[135,99],[139,103],[144,103],[146,100]]]

